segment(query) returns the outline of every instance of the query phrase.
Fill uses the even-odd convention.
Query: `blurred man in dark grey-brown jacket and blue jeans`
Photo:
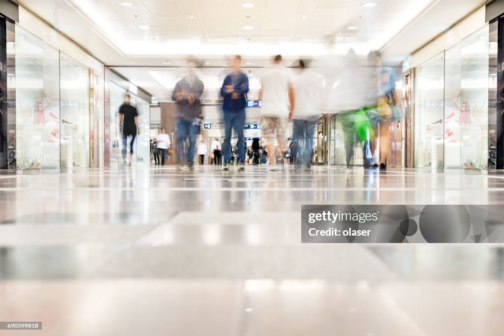
[[[196,138],[200,132],[203,119],[200,97],[205,86],[195,73],[196,61],[190,59],[186,64],[186,76],[175,85],[171,100],[177,102],[175,149],[179,168],[183,167],[183,144],[189,138],[187,150],[187,167],[194,169],[196,155]]]

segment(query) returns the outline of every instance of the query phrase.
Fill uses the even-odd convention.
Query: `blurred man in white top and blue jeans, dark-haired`
[[[296,106],[292,116],[293,135],[291,155],[297,160],[298,149],[303,164],[311,167],[313,154],[313,137],[317,128],[317,121],[321,114],[322,77],[310,71],[303,60],[299,60],[300,73],[294,77],[294,91]],[[301,140],[304,140],[304,144]]]

